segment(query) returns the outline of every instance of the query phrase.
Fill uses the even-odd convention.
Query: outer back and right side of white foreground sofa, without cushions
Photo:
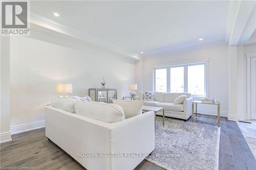
[[[155,149],[154,128],[154,112],[106,123],[52,106],[46,107],[46,137],[87,169],[134,169]],[[103,157],[109,153],[122,156]],[[135,153],[141,155],[124,155]]]

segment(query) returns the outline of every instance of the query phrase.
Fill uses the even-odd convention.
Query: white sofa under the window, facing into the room
[[[174,100],[180,95],[186,95],[187,99],[183,104],[174,104]],[[190,98],[190,93],[166,93],[166,92],[154,92],[154,101],[144,101],[143,105],[164,107],[164,115],[168,117],[175,117],[184,119],[185,121],[192,115],[192,102],[193,98]],[[139,92],[137,99],[144,100],[143,91]],[[163,115],[162,112],[158,112],[157,115]]]

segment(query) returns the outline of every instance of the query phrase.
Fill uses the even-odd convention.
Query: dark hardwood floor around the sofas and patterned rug
[[[85,169],[45,137],[45,128],[12,135],[12,141],[0,144],[0,148],[1,169]],[[135,169],[163,168],[143,160]],[[256,169],[256,160],[237,123],[225,117],[221,117],[219,169]]]

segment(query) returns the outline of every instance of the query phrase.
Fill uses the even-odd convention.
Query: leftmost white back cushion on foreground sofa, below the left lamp
[[[53,107],[75,113],[74,103],[76,101],[73,98],[52,98],[51,104]]]

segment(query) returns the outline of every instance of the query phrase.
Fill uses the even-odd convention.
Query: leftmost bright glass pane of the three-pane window
[[[156,69],[156,91],[166,92],[166,68]]]

